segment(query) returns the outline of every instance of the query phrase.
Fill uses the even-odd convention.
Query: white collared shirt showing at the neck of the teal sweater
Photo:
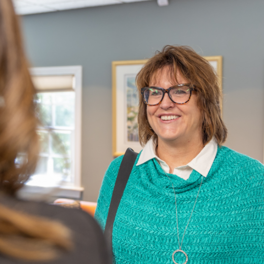
[[[156,155],[156,146],[157,143],[152,137],[144,146],[137,166],[144,164],[145,162],[155,158],[158,163],[160,164],[161,168],[166,172],[169,173],[169,167],[166,162],[161,160],[157,155]],[[181,177],[184,180],[187,180],[191,173],[192,170],[196,170],[199,172],[201,175],[204,177],[207,176],[210,168],[213,165],[213,162],[216,157],[216,152],[217,152],[217,142],[213,138],[208,144],[204,146],[204,148],[201,150],[201,152],[191,161],[189,162],[186,166],[180,166],[177,168],[174,168],[173,174]]]

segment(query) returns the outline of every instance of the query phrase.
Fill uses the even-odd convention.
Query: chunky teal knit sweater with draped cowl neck
[[[138,155],[139,158],[139,155]],[[113,229],[116,264],[173,264],[178,249],[175,198],[171,182],[155,159],[132,169]],[[104,229],[122,156],[107,169],[95,217]],[[202,176],[184,180],[168,174],[178,209],[180,240]],[[227,147],[218,147],[185,233],[188,264],[264,263],[264,166]],[[184,263],[182,253],[174,257]]]

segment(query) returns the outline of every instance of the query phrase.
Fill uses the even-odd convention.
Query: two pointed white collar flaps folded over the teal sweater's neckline
[[[145,162],[153,158],[157,159],[159,162],[162,161],[156,155],[156,151],[155,151],[156,146],[157,146],[156,140],[154,139],[154,137],[151,137],[150,140],[145,144],[140,154],[137,166],[144,164]],[[217,142],[215,138],[213,138],[208,144],[204,146],[201,152],[186,166],[191,167],[192,169],[196,170],[201,175],[206,177],[209,173],[209,170],[211,169],[213,165],[213,162],[216,157],[216,153],[217,153]],[[162,162],[164,163],[164,161]],[[177,167],[177,168],[182,168],[182,167],[183,166]]]

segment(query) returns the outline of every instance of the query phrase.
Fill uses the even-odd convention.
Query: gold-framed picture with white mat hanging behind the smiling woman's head
[[[215,68],[222,89],[222,56],[204,57]],[[113,156],[123,155],[128,147],[140,152],[138,136],[138,91],[136,75],[147,60],[112,62]]]

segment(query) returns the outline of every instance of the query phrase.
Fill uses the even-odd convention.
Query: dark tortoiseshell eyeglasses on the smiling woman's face
[[[168,93],[168,97],[173,103],[185,104],[188,103],[194,91],[194,85],[190,83],[177,84],[164,89],[161,87],[144,87],[141,88],[141,94],[146,105],[158,105],[162,102],[165,93]]]

